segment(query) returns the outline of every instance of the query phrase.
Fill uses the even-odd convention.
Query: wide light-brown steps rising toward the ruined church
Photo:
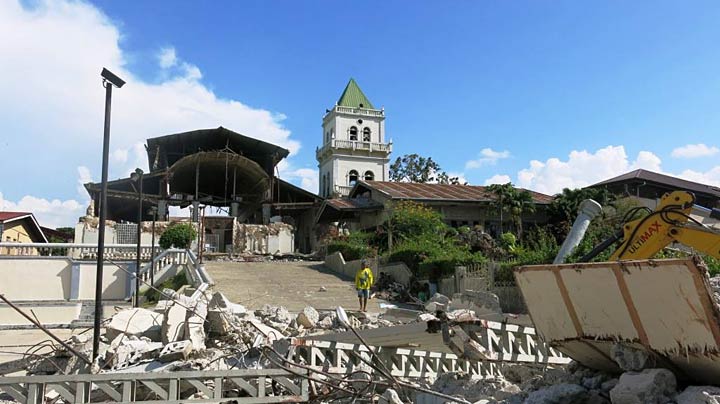
[[[215,281],[215,290],[249,309],[264,304],[285,306],[291,312],[305,306],[358,309],[353,280],[329,271],[322,262],[207,261],[205,268]],[[321,287],[326,291],[321,292]],[[380,312],[381,302],[371,299],[368,311]]]

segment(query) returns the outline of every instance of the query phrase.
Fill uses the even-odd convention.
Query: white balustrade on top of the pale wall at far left
[[[48,256],[72,257],[75,259],[96,259],[97,244],[79,243],[0,243],[0,256]],[[155,246],[155,252],[161,248]],[[104,256],[108,259],[135,259],[136,244],[105,244]],[[152,255],[152,246],[140,246],[140,259],[147,261]]]

